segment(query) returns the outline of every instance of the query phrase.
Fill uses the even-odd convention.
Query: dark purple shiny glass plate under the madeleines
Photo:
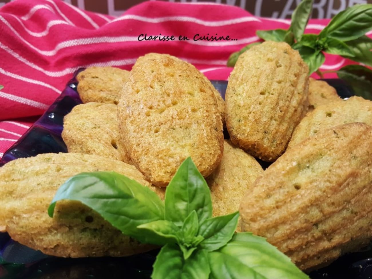
[[[353,95],[341,80],[326,80],[336,88],[342,98]],[[227,81],[211,81],[222,97],[225,97]],[[17,159],[41,153],[67,152],[61,138],[63,117],[81,104],[76,91],[77,81],[71,79],[60,97],[38,121],[4,153],[0,166]],[[225,136],[228,137],[228,134]],[[264,168],[269,165],[260,162]],[[0,233],[0,278],[150,278],[157,250],[122,258],[63,259],[47,256],[10,239]],[[330,266],[310,273],[312,279],[367,279],[372,278],[372,250],[349,253]]]

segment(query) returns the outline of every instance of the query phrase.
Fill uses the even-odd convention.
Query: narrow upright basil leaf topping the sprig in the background
[[[312,0],[302,0],[292,14],[291,30],[297,41],[301,40],[305,27],[310,19],[312,11]]]

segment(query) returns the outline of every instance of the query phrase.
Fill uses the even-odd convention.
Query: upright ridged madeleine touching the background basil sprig
[[[287,43],[264,42],[239,56],[226,90],[231,141],[274,161],[308,106],[308,66]]]

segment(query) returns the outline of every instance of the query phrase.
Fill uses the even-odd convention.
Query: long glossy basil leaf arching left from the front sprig
[[[97,211],[122,233],[148,242],[141,224],[164,218],[160,198],[137,181],[116,172],[80,173],[68,179],[55,194],[48,208],[53,217],[55,203],[61,199],[80,201]]]

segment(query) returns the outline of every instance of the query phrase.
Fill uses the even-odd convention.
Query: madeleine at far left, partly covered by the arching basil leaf
[[[151,186],[131,165],[97,155],[48,153],[13,160],[0,168],[0,228],[12,239],[61,257],[126,256],[150,246],[125,236],[79,202],[60,201],[47,210],[57,189],[81,172],[115,171]]]

